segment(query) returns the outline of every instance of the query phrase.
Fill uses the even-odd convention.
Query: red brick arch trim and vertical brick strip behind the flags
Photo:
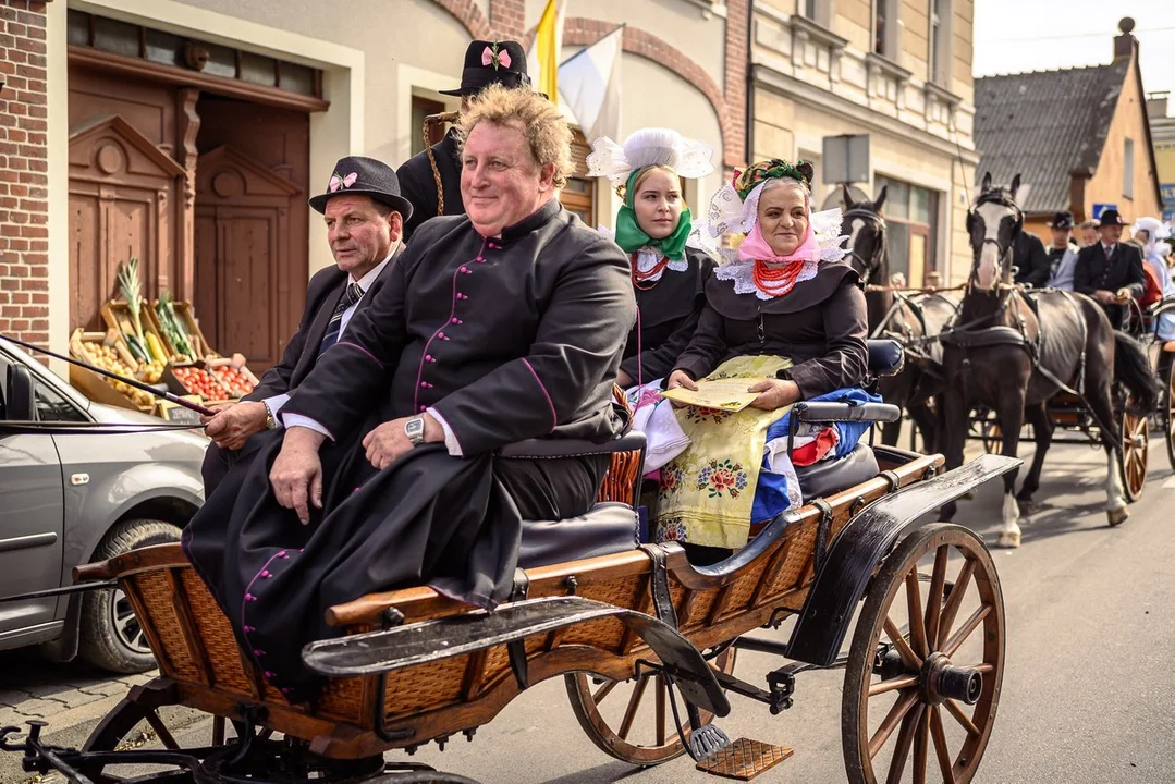
[[[490,0],[486,20],[475,0],[432,0],[456,18],[471,38],[512,38],[530,43],[533,35],[525,20],[525,0]],[[679,74],[697,87],[718,115],[723,134],[723,163],[726,168],[744,166],[746,161],[746,68],[747,36],[750,34],[750,0],[726,2],[726,56],[723,85],[696,60],[669,41],[638,27],[624,28],[624,51],[647,58]],[[595,43],[616,29],[616,22],[600,19],[568,18],[564,20],[563,42],[569,46]]]

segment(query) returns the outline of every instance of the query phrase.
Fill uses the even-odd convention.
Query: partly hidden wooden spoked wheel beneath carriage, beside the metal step
[[[733,648],[724,650],[710,665],[720,672],[733,672],[734,652]],[[657,765],[685,751],[673,725],[669,689],[662,676],[646,672],[639,678],[593,683],[590,675],[577,672],[564,681],[579,726],[604,753],[633,765]],[[676,699],[689,737],[689,717],[680,693]],[[700,713],[703,723],[713,717],[705,710]]]

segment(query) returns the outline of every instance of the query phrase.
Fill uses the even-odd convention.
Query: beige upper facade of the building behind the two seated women
[[[944,282],[966,280],[965,228],[978,155],[972,139],[972,0],[952,0],[941,20],[941,83],[929,65],[931,0],[877,0],[889,12],[886,54],[873,48],[873,0],[756,0],[752,24],[752,156],[817,161],[814,201],[833,186],[820,181],[825,136],[870,134],[871,195],[877,176],[939,194],[935,259]],[[946,5],[946,4],[944,4]],[[898,18],[894,19],[893,14]],[[898,24],[900,22],[900,24]]]

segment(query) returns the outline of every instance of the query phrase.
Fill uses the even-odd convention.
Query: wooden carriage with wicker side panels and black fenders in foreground
[[[885,404],[794,411],[793,421],[815,422],[899,415]],[[920,521],[1018,461],[983,455],[941,474],[941,456],[861,443],[841,458],[855,469],[800,477],[803,507],[752,531],[726,561],[693,567],[677,543],[636,541],[643,437],[611,450],[602,503],[584,524],[622,521],[613,545],[600,545],[602,534],[588,550],[570,544],[563,557],[552,558],[555,548],[524,559],[513,597],[492,614],[423,587],[331,608],[343,636],[302,652],[328,678],[311,706],[287,704],[266,683],[177,544],[81,567],[79,582],[126,592],[160,675],[132,689],[81,750],[48,745],[39,725],[4,729],[0,748],[22,752],[31,772],[82,784],[461,782],[469,779],[384,755],[472,739],[530,685],[563,676],[576,717],[605,753],[654,765],[689,752],[700,770],[748,779],[792,751],[732,743],[714,724],[731,710],[728,695],[774,715],[791,708],[797,674],[844,668],[851,782],[897,780],[904,770],[925,782],[927,769],[934,780],[972,779],[999,704],[1003,601],[978,535]],[[524,550],[528,535],[550,535],[550,524],[532,529],[543,525],[524,534]],[[790,617],[790,637],[773,638]],[[752,684],[733,674],[739,650],[790,661]],[[180,748],[161,712],[169,705],[212,715],[210,744]],[[163,750],[123,749],[143,723]]]

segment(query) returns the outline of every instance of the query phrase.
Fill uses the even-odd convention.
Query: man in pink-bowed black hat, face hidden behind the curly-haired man
[[[470,98],[489,85],[504,87],[530,87],[526,74],[526,53],[515,41],[474,41],[465,51],[465,67],[461,74],[461,87],[443,89],[443,95],[459,95],[464,110]],[[415,212],[404,220],[404,239],[424,221],[437,215],[463,215],[461,201],[461,154],[457,149],[457,127],[454,126],[444,139],[431,148],[408,159],[396,172],[404,196],[412,202]],[[437,181],[441,182],[439,195]]]

